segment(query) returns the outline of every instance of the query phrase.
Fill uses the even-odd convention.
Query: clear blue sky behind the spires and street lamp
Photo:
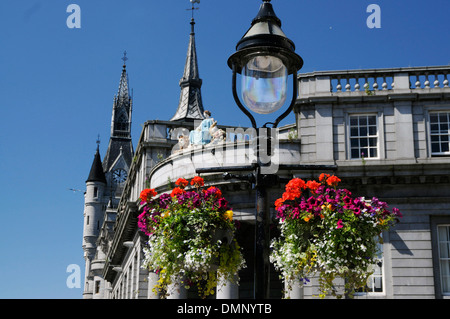
[[[69,4],[81,28],[69,29]],[[249,125],[226,61],[260,0],[202,0],[195,12],[203,103],[220,124]],[[381,28],[369,29],[369,4]],[[273,0],[301,72],[450,64],[448,0]],[[110,134],[122,53],[134,90],[134,145],[147,120],[175,112],[190,31],[188,0],[1,0],[0,298],[81,298],[83,193],[97,135]],[[284,121],[282,124],[288,124]]]

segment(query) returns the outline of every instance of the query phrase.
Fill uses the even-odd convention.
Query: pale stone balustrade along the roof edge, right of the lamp
[[[448,89],[450,66],[323,71],[300,74],[299,97]],[[351,93],[349,93],[351,92]],[[403,93],[402,92],[402,93]]]

